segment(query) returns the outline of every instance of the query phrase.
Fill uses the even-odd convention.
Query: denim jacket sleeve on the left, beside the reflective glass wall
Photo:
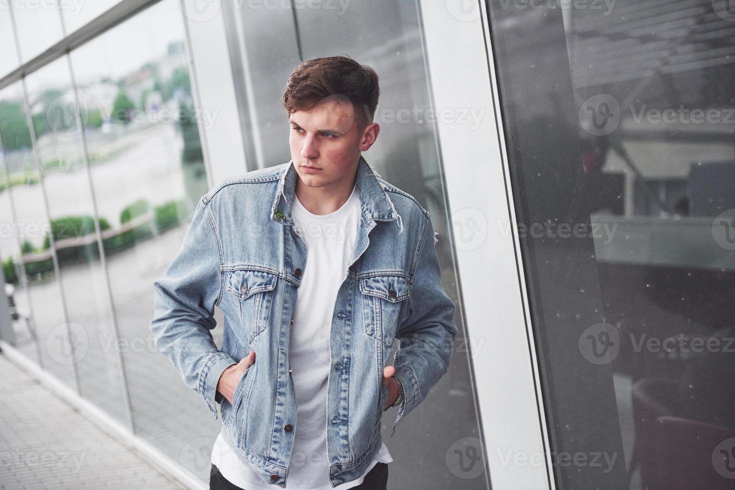
[[[215,305],[221,300],[221,249],[204,198],[198,201],[178,255],[153,284],[151,332],[158,350],[217,419],[215,395],[222,372],[237,364],[215,345]]]

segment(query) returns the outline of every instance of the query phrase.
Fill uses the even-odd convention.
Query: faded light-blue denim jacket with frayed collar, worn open
[[[293,161],[223,181],[198,201],[182,247],[154,282],[151,331],[223,438],[263,480],[286,487],[296,404],[288,359],[290,325],[307,250],[291,219]],[[404,388],[395,426],[448,370],[455,306],[442,288],[437,239],[415,198],[380,179],[361,156],[362,213],[331,320],[326,407],[332,486],[355,480],[381,447],[382,385],[394,339]],[[212,338],[224,315],[223,343]],[[232,404],[217,392],[222,372],[256,351]]]

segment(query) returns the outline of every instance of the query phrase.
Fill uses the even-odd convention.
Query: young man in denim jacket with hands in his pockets
[[[448,370],[455,308],[429,214],[362,157],[378,97],[348,57],[301,63],[283,94],[290,162],[207,192],[154,283],[159,350],[220,408],[210,489],[384,490],[382,412],[398,406],[395,432]]]

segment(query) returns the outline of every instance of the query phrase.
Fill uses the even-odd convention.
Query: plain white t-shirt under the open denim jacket
[[[329,215],[314,215],[294,194],[291,215],[309,255],[295,304],[289,358],[296,405],[293,451],[288,468],[288,490],[346,490],[358,486],[379,461],[393,459],[382,444],[368,469],[356,480],[332,487],[326,447],[327,380],[331,369],[329,333],[337,292],[345,277],[360,220],[360,201],[353,187],[347,201]],[[212,449],[212,463],[223,477],[244,490],[273,485],[230,450],[220,434]]]

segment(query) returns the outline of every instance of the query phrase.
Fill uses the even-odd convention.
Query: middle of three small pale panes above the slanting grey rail
[[[61,15],[55,1],[8,0],[18,29],[21,61],[32,60],[61,40]],[[84,2],[86,3],[86,2]]]

